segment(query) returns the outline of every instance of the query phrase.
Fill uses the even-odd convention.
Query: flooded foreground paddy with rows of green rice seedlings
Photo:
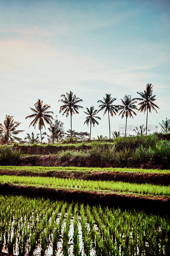
[[[47,255],[170,255],[170,220],[144,212],[0,196],[0,251]]]

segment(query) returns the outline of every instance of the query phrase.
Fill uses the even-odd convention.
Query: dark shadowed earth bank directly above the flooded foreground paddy
[[[44,197],[52,200],[80,202],[88,204],[103,204],[146,212],[169,214],[170,199],[158,196],[136,196],[133,194],[102,193],[71,189],[54,189],[42,187],[16,186],[0,184],[0,194],[24,195],[30,197]]]

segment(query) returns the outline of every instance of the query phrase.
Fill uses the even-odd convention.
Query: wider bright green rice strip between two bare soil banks
[[[115,191],[125,193],[135,193],[143,195],[170,196],[170,186],[151,185],[151,184],[132,184],[114,181],[91,181],[76,179],[60,179],[53,177],[25,177],[25,176],[0,176],[0,183],[29,184],[54,188],[72,188],[94,191]]]

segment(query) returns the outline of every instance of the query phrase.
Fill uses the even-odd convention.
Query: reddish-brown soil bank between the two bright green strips
[[[77,171],[47,171],[25,172],[0,170],[0,175],[32,176],[32,177],[56,177],[62,179],[78,180],[114,180],[129,183],[150,183],[154,185],[169,185],[170,174],[164,173],[138,173],[138,172],[77,172]]]

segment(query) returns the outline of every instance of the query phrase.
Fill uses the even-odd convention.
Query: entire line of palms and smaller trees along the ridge
[[[101,120],[101,117],[96,116],[98,112],[100,111],[104,111],[103,116],[105,114],[108,114],[108,121],[109,121],[109,138],[110,138],[110,116],[113,117],[114,115],[119,115],[121,116],[121,118],[126,118],[126,124],[125,124],[125,137],[126,137],[126,127],[127,127],[127,119],[128,117],[132,117],[136,116],[137,113],[135,112],[136,110],[138,110],[138,112],[143,112],[144,114],[146,113],[146,128],[145,128],[145,134],[147,135],[147,121],[148,121],[148,112],[152,113],[152,110],[156,111],[156,108],[159,108],[154,101],[155,96],[156,95],[152,95],[153,92],[153,85],[152,84],[147,84],[146,85],[146,89],[144,90],[144,92],[137,92],[138,95],[140,96],[140,98],[132,98],[131,95],[125,95],[123,99],[121,100],[122,105],[114,105],[114,101],[116,100],[116,98],[112,98],[111,94],[107,94],[106,96],[103,97],[103,100],[98,100],[98,103],[101,103],[99,105],[99,109],[95,109],[94,106],[90,106],[90,108],[86,108],[87,110],[84,111],[84,113],[86,114],[86,120],[84,122],[84,124],[87,124],[88,126],[90,125],[90,133],[89,133],[89,140],[91,139],[91,127],[93,125],[93,127],[95,126],[95,124],[99,124],[98,120]],[[78,110],[80,108],[83,108],[80,104],[80,102],[82,102],[83,100],[78,98],[75,94],[73,94],[72,91],[70,91],[69,93],[67,92],[66,94],[62,94],[61,95],[61,100],[59,100],[59,102],[62,103],[62,105],[60,106],[60,111],[59,113],[62,113],[62,115],[66,115],[66,117],[68,117],[70,115],[70,132],[69,132],[69,136],[72,137],[72,116],[73,114],[79,114]],[[139,100],[140,102],[138,103],[139,108],[137,107],[136,103],[137,100]],[[38,125],[38,128],[40,130],[40,138],[41,138],[41,143],[43,140],[43,135],[47,135],[46,132],[42,133],[42,128],[45,127],[45,123],[49,124],[50,127],[48,128],[48,130],[51,132],[51,138],[50,135],[47,135],[48,139],[52,139],[53,140],[53,134],[56,132],[56,129],[61,128],[61,132],[57,132],[57,134],[59,135],[63,135],[63,130],[62,130],[62,122],[60,122],[59,120],[55,120],[54,124],[52,125],[52,120],[53,120],[53,111],[50,111],[50,106],[48,104],[43,104],[43,101],[38,99],[38,101],[34,104],[34,108],[30,108],[33,112],[33,114],[26,116],[25,119],[27,118],[33,118],[30,126],[33,126],[34,128],[36,127],[36,125]],[[59,123],[58,123],[59,122]],[[162,120],[162,122],[164,122]],[[170,119],[167,119],[165,122],[168,122],[168,124],[165,123],[165,125],[167,126],[167,132],[170,131]],[[62,123],[62,124],[61,124]],[[17,127],[19,126],[19,122],[14,122],[13,116],[7,116],[4,120],[4,125],[0,123],[0,135],[1,138],[3,138],[4,140],[6,140],[6,143],[8,143],[9,141],[13,141],[13,140],[18,140],[20,141],[21,139],[18,138],[16,135],[20,132],[23,132],[22,130],[16,130]],[[160,124],[163,128],[163,126],[165,126],[163,123]],[[168,128],[169,127],[169,128]],[[68,132],[68,131],[67,131]],[[74,131],[75,133],[75,131]],[[88,134],[88,133],[87,133]],[[26,138],[29,139],[29,134],[27,133]],[[38,134],[36,135],[38,136]],[[61,137],[59,136],[59,137]],[[25,139],[26,139],[25,138]],[[30,137],[31,138],[31,137]],[[57,142],[58,142],[59,138],[57,138]]]

